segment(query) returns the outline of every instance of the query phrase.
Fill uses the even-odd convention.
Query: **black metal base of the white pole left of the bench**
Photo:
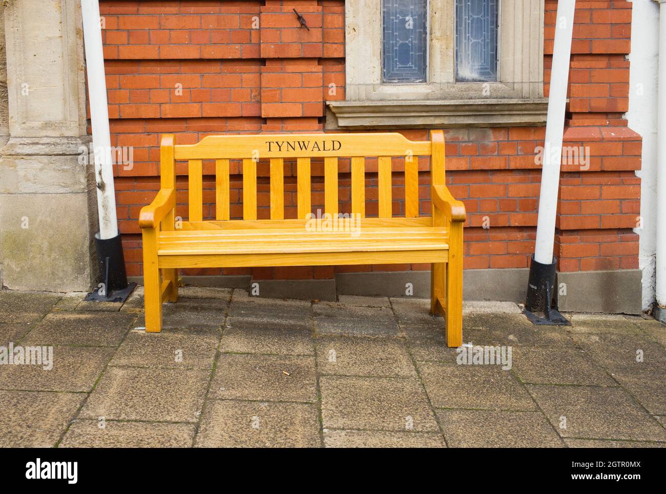
[[[102,280],[93,292],[87,294],[84,300],[125,302],[137,284],[127,283],[121,234],[102,240],[99,233],[96,233],[95,246],[97,247],[97,260]]]

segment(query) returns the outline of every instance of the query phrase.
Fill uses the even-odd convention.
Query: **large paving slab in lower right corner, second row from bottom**
[[[620,387],[527,385],[562,437],[666,441],[666,430]],[[564,423],[566,427],[560,427]]]

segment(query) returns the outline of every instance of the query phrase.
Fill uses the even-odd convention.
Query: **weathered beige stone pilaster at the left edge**
[[[86,291],[97,229],[79,0],[5,7],[9,140],[0,149],[0,266],[13,290]],[[83,155],[83,158],[82,158]]]

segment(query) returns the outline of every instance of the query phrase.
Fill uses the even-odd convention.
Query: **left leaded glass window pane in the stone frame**
[[[428,0],[382,2],[384,83],[424,83],[428,74]]]

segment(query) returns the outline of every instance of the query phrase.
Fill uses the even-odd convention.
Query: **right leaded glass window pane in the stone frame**
[[[456,0],[456,81],[497,81],[498,3]]]

